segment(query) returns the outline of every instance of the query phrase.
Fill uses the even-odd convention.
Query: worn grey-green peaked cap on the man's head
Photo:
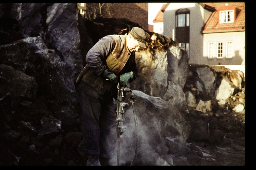
[[[148,37],[144,30],[139,27],[133,27],[130,31],[130,34],[138,40],[138,43],[141,47],[147,48],[145,43]]]

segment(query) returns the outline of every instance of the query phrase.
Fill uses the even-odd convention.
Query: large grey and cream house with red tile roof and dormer
[[[189,63],[245,64],[244,2],[167,3],[163,35],[175,37]]]

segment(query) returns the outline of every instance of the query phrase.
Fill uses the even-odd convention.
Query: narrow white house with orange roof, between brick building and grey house
[[[166,4],[163,4],[160,11],[157,13],[156,17],[153,20],[153,32],[158,34],[163,34],[163,12],[162,9],[165,7]]]

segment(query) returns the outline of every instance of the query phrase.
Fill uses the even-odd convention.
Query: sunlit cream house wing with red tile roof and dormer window
[[[203,56],[209,64],[245,64],[244,3],[214,3],[217,9],[206,22]]]

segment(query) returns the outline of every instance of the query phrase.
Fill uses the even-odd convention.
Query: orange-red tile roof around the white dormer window
[[[203,33],[209,33],[211,31],[223,31],[223,30],[244,30],[245,27],[245,11],[244,2],[228,2],[225,6],[225,2],[212,3],[215,6],[216,11],[212,13],[208,21],[205,23]],[[219,23],[219,11],[234,9],[234,22],[232,23]],[[237,11],[237,12],[236,12]]]

